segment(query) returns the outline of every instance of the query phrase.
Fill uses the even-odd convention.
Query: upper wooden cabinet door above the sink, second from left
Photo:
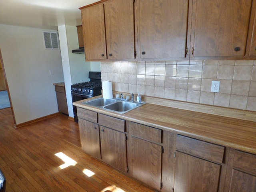
[[[104,3],[108,59],[134,59],[133,0]]]

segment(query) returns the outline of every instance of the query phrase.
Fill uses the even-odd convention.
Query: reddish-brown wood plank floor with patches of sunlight
[[[78,124],[57,115],[14,128],[10,108],[0,110],[0,169],[6,192],[153,192],[80,149]],[[77,164],[61,169],[62,152]],[[67,160],[65,160],[67,161]],[[83,170],[94,172],[86,176]]]

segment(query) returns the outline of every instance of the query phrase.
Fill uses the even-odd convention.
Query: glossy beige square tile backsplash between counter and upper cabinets
[[[101,73],[118,92],[256,111],[256,61],[101,62]]]

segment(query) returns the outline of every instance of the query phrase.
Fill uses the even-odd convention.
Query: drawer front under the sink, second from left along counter
[[[118,119],[107,115],[99,114],[99,124],[108,128],[112,128],[114,130],[125,132],[124,122],[125,121],[123,119]]]

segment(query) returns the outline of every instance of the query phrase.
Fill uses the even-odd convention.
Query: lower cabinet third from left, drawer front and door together
[[[128,174],[161,189],[162,130],[129,122]]]

